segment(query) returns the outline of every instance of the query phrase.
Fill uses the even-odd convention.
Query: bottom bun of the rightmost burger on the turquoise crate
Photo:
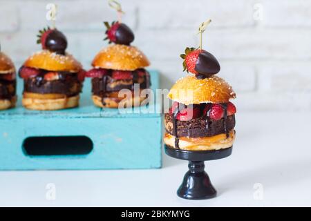
[[[124,102],[124,98],[117,98],[117,97],[100,97],[97,95],[92,96],[93,102],[95,106],[98,106],[100,108],[119,108],[119,104],[122,101]],[[135,97],[130,97],[129,99],[126,100],[127,104],[131,104],[131,107],[133,106],[140,106],[144,100],[147,99],[146,97],[140,97],[140,96],[135,96]],[[125,104],[125,102],[124,102]],[[126,106],[122,106],[122,108],[126,108]]]

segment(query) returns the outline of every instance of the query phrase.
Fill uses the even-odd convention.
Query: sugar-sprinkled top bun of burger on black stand
[[[232,90],[232,86],[220,77],[197,79],[194,75],[188,75],[173,85],[167,97],[185,105],[216,104],[229,102],[229,99],[236,97],[236,93]]]

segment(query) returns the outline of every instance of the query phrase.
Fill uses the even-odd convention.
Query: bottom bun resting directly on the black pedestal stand
[[[229,137],[225,133],[213,137],[178,137],[178,146],[185,151],[216,151],[231,147],[235,137],[236,133],[234,130],[229,132]],[[165,133],[164,143],[171,148],[176,148],[175,138],[175,136]]]

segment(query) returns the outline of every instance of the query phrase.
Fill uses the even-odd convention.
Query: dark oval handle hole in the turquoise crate
[[[23,152],[29,156],[87,155],[93,150],[93,142],[86,136],[27,137]]]

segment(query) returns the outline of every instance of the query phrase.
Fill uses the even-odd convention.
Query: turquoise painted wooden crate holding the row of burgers
[[[151,88],[159,88],[159,75],[151,70]],[[0,170],[153,169],[162,165],[160,113],[120,113],[97,108],[91,101],[91,82],[84,83],[79,108],[62,111],[28,111],[21,106],[18,82],[17,108],[0,112]],[[149,108],[160,107],[160,101]],[[139,112],[139,113],[138,113]],[[28,150],[28,140],[70,137],[91,143],[89,153],[38,155]],[[87,137],[87,138],[86,138]],[[79,139],[78,139],[79,138]],[[49,145],[52,144],[48,141]],[[78,144],[78,145],[79,145]],[[93,145],[92,145],[93,144]],[[77,145],[77,144],[75,144]],[[31,145],[30,145],[31,147]],[[81,146],[79,146],[81,147]],[[38,146],[36,147],[38,150]],[[36,150],[35,148],[35,150]],[[40,149],[41,148],[41,149]],[[44,145],[39,150],[44,150]],[[55,149],[57,146],[55,146]],[[79,148],[77,148],[79,149]],[[31,148],[30,148],[31,150]]]

